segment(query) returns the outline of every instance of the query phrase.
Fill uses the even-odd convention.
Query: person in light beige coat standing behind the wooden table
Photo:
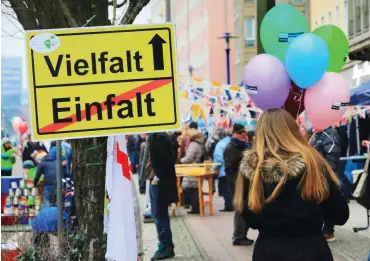
[[[190,124],[191,125],[191,124]],[[187,131],[189,135],[189,146],[185,151],[185,156],[180,159],[182,164],[201,163],[204,155],[204,138],[203,134],[197,129],[190,128]],[[189,199],[191,211],[189,214],[199,214],[198,182],[196,177],[183,177],[181,188],[184,192],[185,199]],[[188,203],[185,200],[185,203]]]

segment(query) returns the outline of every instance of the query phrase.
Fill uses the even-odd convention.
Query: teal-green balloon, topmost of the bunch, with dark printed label
[[[289,44],[300,34],[308,33],[307,18],[296,7],[280,4],[272,8],[261,23],[261,42],[266,53],[285,61]]]

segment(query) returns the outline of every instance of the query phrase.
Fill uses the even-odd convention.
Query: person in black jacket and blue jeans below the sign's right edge
[[[166,133],[149,136],[149,159],[146,178],[150,180],[150,202],[158,233],[158,250],[151,260],[163,260],[175,256],[168,205],[178,202],[175,164],[171,140]]]

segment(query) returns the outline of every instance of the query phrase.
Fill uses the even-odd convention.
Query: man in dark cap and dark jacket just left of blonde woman
[[[239,165],[243,159],[243,151],[248,147],[248,135],[244,126],[235,124],[232,131],[232,138],[224,151],[224,162],[226,179],[232,198],[235,193],[235,182],[239,172]],[[234,212],[234,233],[233,245],[251,245],[253,240],[247,238],[248,225],[245,223],[241,213]]]

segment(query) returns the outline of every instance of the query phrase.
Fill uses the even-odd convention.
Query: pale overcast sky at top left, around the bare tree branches
[[[122,8],[121,8],[122,9]],[[25,79],[25,43],[23,40],[23,28],[21,24],[12,16],[15,16],[13,10],[1,5],[1,10],[8,14],[1,13],[1,57],[18,56],[23,58],[23,74]],[[117,17],[120,17],[123,10],[117,11]],[[112,8],[110,8],[112,16]],[[148,4],[136,17],[135,24],[145,24],[150,19],[150,4]],[[11,36],[9,36],[11,35]],[[26,82],[26,81],[23,81]],[[25,84],[23,84],[24,87]]]

